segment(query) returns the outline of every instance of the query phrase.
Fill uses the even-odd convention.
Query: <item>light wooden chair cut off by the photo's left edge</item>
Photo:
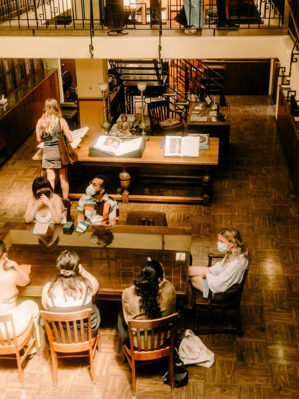
[[[8,323],[11,323],[13,338],[9,338],[10,334],[9,334],[9,328],[8,328],[9,324]],[[6,338],[4,339],[4,336],[0,329],[0,358],[12,359],[12,357],[7,357],[4,355],[12,355],[12,354],[16,355],[20,383],[21,383],[21,387],[23,388],[24,387],[24,379],[23,379],[23,372],[22,372],[22,364],[23,364],[24,360],[26,359],[28,352],[33,347],[33,345],[35,346],[37,356],[39,356],[39,349],[38,349],[38,345],[37,345],[34,322],[33,322],[33,320],[31,320],[28,327],[26,328],[26,330],[19,336],[16,336],[16,330],[14,328],[14,320],[13,320],[12,314],[4,314],[3,316],[0,316],[0,325],[3,326],[5,335],[6,335]],[[20,350],[22,350],[24,348],[24,346],[28,343],[28,340],[31,336],[33,337],[33,340],[31,342],[31,344],[28,345],[27,349],[24,350],[24,354],[21,356]]]

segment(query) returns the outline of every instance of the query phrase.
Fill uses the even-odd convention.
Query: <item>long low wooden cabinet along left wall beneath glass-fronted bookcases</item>
[[[57,70],[47,76],[47,72],[40,71],[39,83],[32,89],[29,82],[28,89],[22,87],[23,98],[13,104],[10,97],[15,98],[14,94],[8,96],[9,111],[0,119],[0,141],[5,142],[6,158],[16,150],[25,138],[35,128],[37,120],[43,113],[43,103],[48,97],[53,97],[59,101],[58,74]],[[33,77],[32,79],[36,79]],[[0,144],[0,163],[4,152]]]

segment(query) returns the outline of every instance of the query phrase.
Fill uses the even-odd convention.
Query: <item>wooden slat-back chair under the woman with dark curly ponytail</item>
[[[128,320],[130,348],[122,344],[122,362],[124,363],[127,358],[132,369],[132,395],[136,395],[135,362],[141,361],[140,365],[148,364],[152,361],[161,361],[161,358],[166,356],[168,357],[171,389],[175,389],[173,344],[177,316],[178,313],[174,313],[155,320]],[[134,337],[137,338],[137,347]]]

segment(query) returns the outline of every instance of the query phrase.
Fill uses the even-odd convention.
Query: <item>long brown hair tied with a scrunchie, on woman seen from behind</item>
[[[49,298],[55,297],[57,288],[61,288],[65,300],[67,300],[67,296],[75,300],[81,298],[85,293],[88,296],[92,291],[92,286],[90,281],[79,273],[79,262],[79,256],[75,251],[66,249],[59,255],[57,258],[57,276],[49,286]],[[82,285],[85,286],[85,290]]]

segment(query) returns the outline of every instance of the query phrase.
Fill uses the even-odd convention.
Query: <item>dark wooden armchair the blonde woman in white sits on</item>
[[[224,255],[213,255],[209,254],[209,263],[208,267],[212,266],[212,259],[223,259]],[[195,318],[194,318],[194,330],[196,334],[201,334],[205,332],[226,332],[226,333],[237,333],[241,338],[243,336],[242,324],[241,324],[241,314],[240,314],[240,302],[242,297],[242,292],[244,288],[244,284],[246,281],[246,277],[248,275],[250,264],[244,272],[243,279],[240,284],[234,284],[230,288],[228,288],[225,292],[230,293],[230,296],[227,299],[218,300],[212,299],[212,291],[209,290],[208,298],[203,297],[203,293],[199,290],[194,290],[194,307],[195,307]],[[201,309],[206,308],[210,314],[209,327],[207,328],[199,328],[199,312]],[[236,327],[213,327],[213,309],[221,309],[222,315],[224,318],[224,322],[226,322],[226,310],[234,310],[234,321]]]

